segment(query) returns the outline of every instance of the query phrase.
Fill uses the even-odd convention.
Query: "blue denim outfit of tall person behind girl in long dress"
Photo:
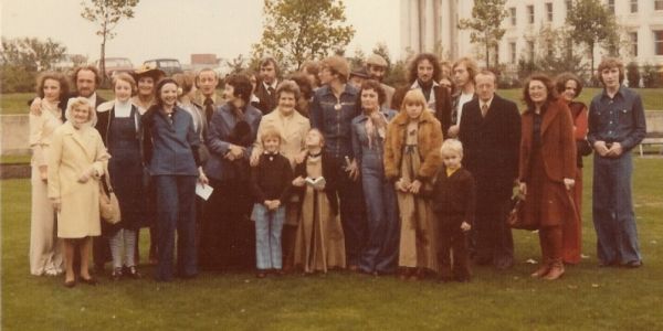
[[[325,153],[336,164],[338,200],[340,202],[340,222],[345,235],[346,261],[348,266],[359,265],[361,246],[365,243],[366,217],[361,182],[352,181],[346,172],[346,157],[352,160],[351,121],[359,115],[358,92],[349,84],[336,98],[326,85],[318,88],[311,105],[311,127],[319,129],[325,137]]]

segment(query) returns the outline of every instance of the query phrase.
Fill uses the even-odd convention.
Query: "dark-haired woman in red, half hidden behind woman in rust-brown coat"
[[[582,156],[583,153],[585,156],[591,153],[591,147],[586,140],[589,113],[583,103],[575,100],[582,92],[582,82],[580,82],[578,76],[571,73],[562,73],[557,76],[556,81],[557,93],[559,93],[561,100],[565,102],[571,110],[571,117],[573,118],[573,138],[576,138],[576,146],[578,147],[578,153],[576,154],[576,184],[571,191],[576,212],[578,213],[578,222],[570,222],[575,220],[568,220],[569,222],[565,222],[561,228],[561,258],[565,264],[575,265],[580,263],[582,249]],[[583,143],[586,143],[585,151],[582,151]]]

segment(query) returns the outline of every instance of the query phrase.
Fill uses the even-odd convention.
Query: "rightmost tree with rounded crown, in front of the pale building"
[[[591,72],[594,68],[593,51],[597,45],[615,49],[619,33],[614,14],[600,0],[572,0],[566,23],[575,43],[587,46],[591,54]]]

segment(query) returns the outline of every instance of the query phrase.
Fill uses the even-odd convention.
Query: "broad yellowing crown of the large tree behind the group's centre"
[[[284,68],[343,50],[355,35],[345,25],[341,0],[264,0],[263,33],[253,44],[254,57],[271,54]]]

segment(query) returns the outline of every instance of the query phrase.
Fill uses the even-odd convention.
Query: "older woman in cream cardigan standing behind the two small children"
[[[301,97],[299,87],[293,81],[283,81],[276,87],[276,109],[262,117],[257,127],[257,137],[262,137],[265,129],[272,127],[281,132],[281,153],[291,162],[293,170],[296,161],[304,159],[306,150],[306,134],[311,129],[311,122],[298,111],[296,111],[297,100]],[[251,154],[251,166],[255,167],[264,147],[260,139],[253,143]],[[283,227],[283,257],[284,269],[288,270],[293,266],[293,253],[295,245],[295,235],[298,224],[298,203],[296,195],[285,205],[286,217]]]

